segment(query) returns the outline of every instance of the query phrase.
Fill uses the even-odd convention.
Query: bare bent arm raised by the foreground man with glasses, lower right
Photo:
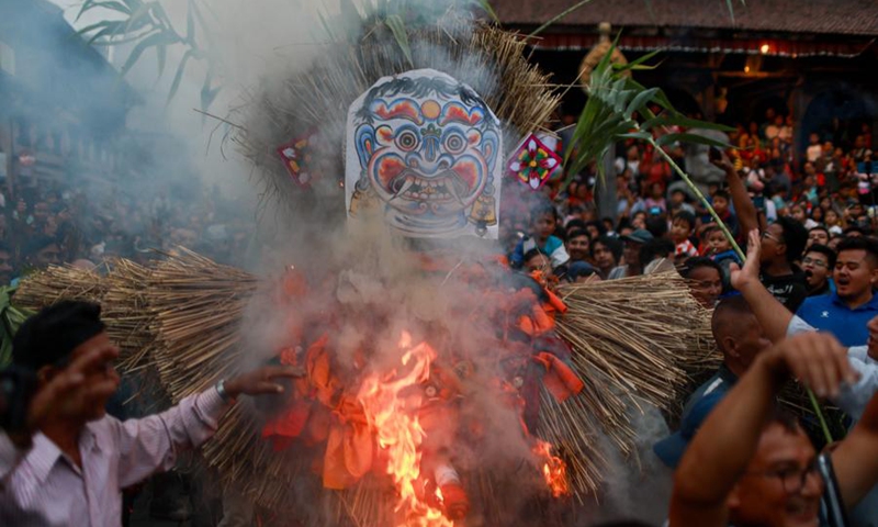
[[[728,524],[729,494],[753,458],[775,395],[790,374],[831,395],[842,381],[855,379],[846,350],[830,335],[798,335],[757,356],[686,449],[674,474],[671,527]]]

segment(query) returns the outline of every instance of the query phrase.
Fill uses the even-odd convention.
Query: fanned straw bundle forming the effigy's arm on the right
[[[570,451],[574,489],[584,494],[601,481],[603,458],[590,444],[594,424],[622,453],[634,453],[629,407],[643,400],[677,412],[689,375],[716,367],[719,356],[710,313],[675,271],[563,285],[560,293],[570,311],[558,332],[571,344],[586,388],[563,405],[543,397],[539,431]]]

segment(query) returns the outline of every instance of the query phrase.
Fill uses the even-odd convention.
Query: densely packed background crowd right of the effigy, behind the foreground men
[[[834,291],[828,266],[835,265],[843,240],[876,234],[878,166],[873,168],[870,130],[864,124],[853,139],[837,143],[812,133],[807,149],[797,153],[796,123],[769,109],[763,123],[738,125],[729,134],[733,147],[710,153],[721,176],[700,187],[716,217],[741,247],[750,229],[761,231],[763,282],[792,311],[809,295]],[[507,218],[503,243],[513,267],[533,269],[547,256],[560,278],[607,280],[648,272],[664,259],[706,284],[700,289],[710,295],[698,296],[711,306],[730,293],[730,267],[742,262],[743,253],[651,146],[630,141],[617,152],[617,217],[597,213],[594,167],[595,173],[577,175],[566,188],[547,184],[538,206],[519,208],[527,212]],[[667,152],[690,169],[683,146]]]

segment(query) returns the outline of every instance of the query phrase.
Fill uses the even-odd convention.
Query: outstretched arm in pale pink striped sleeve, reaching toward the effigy
[[[260,368],[225,381],[225,399],[214,386],[161,414],[124,423],[110,419],[120,455],[120,485],[130,486],[156,471],[170,469],[179,452],[198,448],[213,437],[219,419],[238,396],[280,393],[283,386],[275,379],[303,374],[300,368]]]

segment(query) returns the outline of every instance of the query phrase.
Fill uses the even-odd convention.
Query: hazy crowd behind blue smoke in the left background
[[[93,268],[110,258],[137,262],[183,246],[221,262],[246,253],[251,222],[213,190],[83,190],[29,178],[0,186],[0,284],[48,265]]]

